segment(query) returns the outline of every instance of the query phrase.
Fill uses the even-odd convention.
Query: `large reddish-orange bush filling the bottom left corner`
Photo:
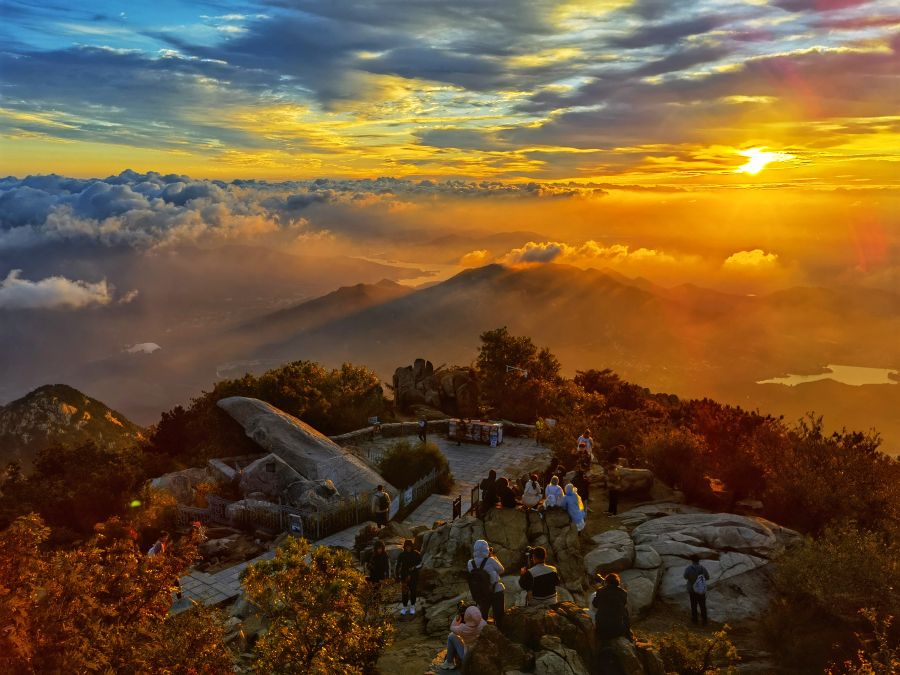
[[[232,672],[223,617],[204,608],[168,616],[195,548],[149,558],[117,522],[66,551],[46,551],[48,534],[33,514],[0,533],[0,672]]]

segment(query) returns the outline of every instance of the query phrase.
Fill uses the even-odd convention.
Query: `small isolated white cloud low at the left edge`
[[[79,309],[112,301],[113,289],[106,279],[95,284],[65,277],[28,281],[19,278],[21,273],[12,270],[0,282],[0,309]]]

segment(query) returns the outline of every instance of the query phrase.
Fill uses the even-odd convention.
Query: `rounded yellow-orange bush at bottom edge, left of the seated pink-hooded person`
[[[256,643],[256,672],[368,675],[393,641],[390,583],[370,585],[351,555],[324,546],[310,553],[289,538],[274,560],[241,573],[247,598],[269,617]]]

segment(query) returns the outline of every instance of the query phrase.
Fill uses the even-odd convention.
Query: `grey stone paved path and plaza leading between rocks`
[[[506,438],[496,448],[474,443],[463,443],[457,446],[456,441],[439,436],[431,436],[428,440],[437,445],[447,457],[450,462],[450,470],[456,478],[456,485],[448,496],[431,495],[426,499],[404,521],[408,525],[428,525],[430,527],[436,520],[449,521],[453,515],[453,500],[462,495],[462,511],[463,513],[468,511],[471,507],[472,487],[478,485],[491,469],[496,469],[499,476],[515,478],[535,460],[549,462],[551,455],[549,448],[535,445],[535,442],[528,438]],[[366,445],[384,447],[393,442],[394,439],[377,439]],[[352,548],[354,538],[366,524],[368,523],[361,523],[320,539],[314,543],[314,546]],[[183,576],[181,586],[184,599],[173,604],[172,613],[177,614],[184,611],[193,606],[194,602],[215,605],[236,598],[241,592],[238,575],[244,571],[244,568],[259,560],[272,560],[274,557],[275,552],[269,551],[258,558],[229,567],[216,574],[194,571]]]

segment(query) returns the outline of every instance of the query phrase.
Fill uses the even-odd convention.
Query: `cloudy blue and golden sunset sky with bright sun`
[[[460,263],[898,288],[893,1],[0,0],[0,42],[0,251],[519,229]]]

